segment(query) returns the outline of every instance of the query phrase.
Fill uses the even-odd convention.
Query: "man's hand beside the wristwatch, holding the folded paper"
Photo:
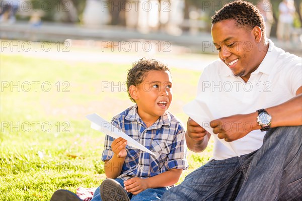
[[[210,126],[213,128],[213,133],[218,133],[218,138],[232,142],[246,136],[252,130],[259,129],[256,117],[257,113],[233,115],[213,120]]]

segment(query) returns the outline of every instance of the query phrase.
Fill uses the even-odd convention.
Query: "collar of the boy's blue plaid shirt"
[[[137,104],[132,106],[125,119],[129,121],[136,120],[138,123],[145,125],[145,123],[142,121],[142,119],[139,117],[137,113]],[[148,129],[158,129],[161,128],[163,125],[166,126],[171,125],[171,116],[168,111],[166,111],[164,115],[160,116],[160,118],[152,126],[148,127]]]

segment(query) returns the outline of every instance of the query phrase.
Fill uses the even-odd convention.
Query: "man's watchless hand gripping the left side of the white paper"
[[[194,141],[202,141],[208,132],[191,118],[187,122],[187,134]]]

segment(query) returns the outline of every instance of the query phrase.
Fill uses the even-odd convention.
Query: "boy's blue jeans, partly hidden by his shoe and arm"
[[[120,178],[114,179],[117,182],[119,182],[123,187],[124,187],[124,180]],[[167,191],[168,188],[163,187],[163,188],[148,188],[145,189],[144,191],[133,195],[132,193],[128,192],[128,196],[131,201],[147,201],[147,200],[156,200],[156,199],[161,199],[163,194]],[[96,189],[94,192],[93,198],[91,201],[101,201],[101,194],[100,194],[100,187]]]

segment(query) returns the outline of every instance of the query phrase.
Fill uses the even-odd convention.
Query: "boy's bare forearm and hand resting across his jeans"
[[[153,177],[134,177],[124,181],[125,190],[132,194],[138,194],[147,188],[160,188],[173,185],[178,182],[182,169],[170,169]]]

